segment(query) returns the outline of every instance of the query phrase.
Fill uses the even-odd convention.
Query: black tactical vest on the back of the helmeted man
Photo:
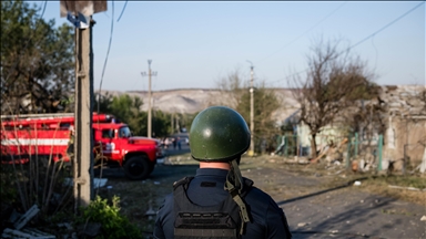
[[[241,238],[241,216],[237,204],[230,195],[214,206],[199,206],[190,201],[186,189],[193,177],[185,177],[173,185],[175,239],[235,239]],[[253,181],[244,178],[242,198]]]

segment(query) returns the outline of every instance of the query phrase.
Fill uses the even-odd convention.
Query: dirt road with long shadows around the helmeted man
[[[171,154],[159,164],[143,181],[153,185],[150,196],[154,208],[172,191],[173,181],[194,175],[196,168],[189,155]],[[365,193],[353,185],[361,176],[343,167],[318,170],[258,157],[243,158],[241,169],[284,209],[294,238],[426,238],[426,221],[420,220],[426,217],[426,200],[417,205]],[[110,184],[119,180],[129,185],[120,176],[109,178]]]

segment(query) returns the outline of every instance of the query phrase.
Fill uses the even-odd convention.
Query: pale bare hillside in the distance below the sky
[[[149,92],[148,91],[102,91],[112,95],[129,94],[139,96],[143,101],[142,111],[148,111]],[[298,104],[293,98],[291,90],[274,89],[275,94],[282,102],[283,107],[277,108],[274,117],[281,123],[297,110]],[[209,105],[217,105],[220,98],[226,97],[226,94],[219,90],[207,89],[176,89],[152,92],[152,107],[168,113],[196,113]]]

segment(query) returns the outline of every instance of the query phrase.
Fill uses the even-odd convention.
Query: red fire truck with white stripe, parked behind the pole
[[[129,126],[112,115],[93,114],[92,119],[95,164],[122,166],[131,179],[144,179],[152,173],[156,159],[163,156],[160,141],[133,136]],[[70,162],[73,127],[73,114],[2,115],[2,163],[36,158]]]

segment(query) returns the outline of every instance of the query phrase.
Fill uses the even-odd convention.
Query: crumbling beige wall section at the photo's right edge
[[[423,158],[426,144],[426,87],[423,85],[382,86],[381,100],[386,104],[384,158],[409,157],[412,166]]]

